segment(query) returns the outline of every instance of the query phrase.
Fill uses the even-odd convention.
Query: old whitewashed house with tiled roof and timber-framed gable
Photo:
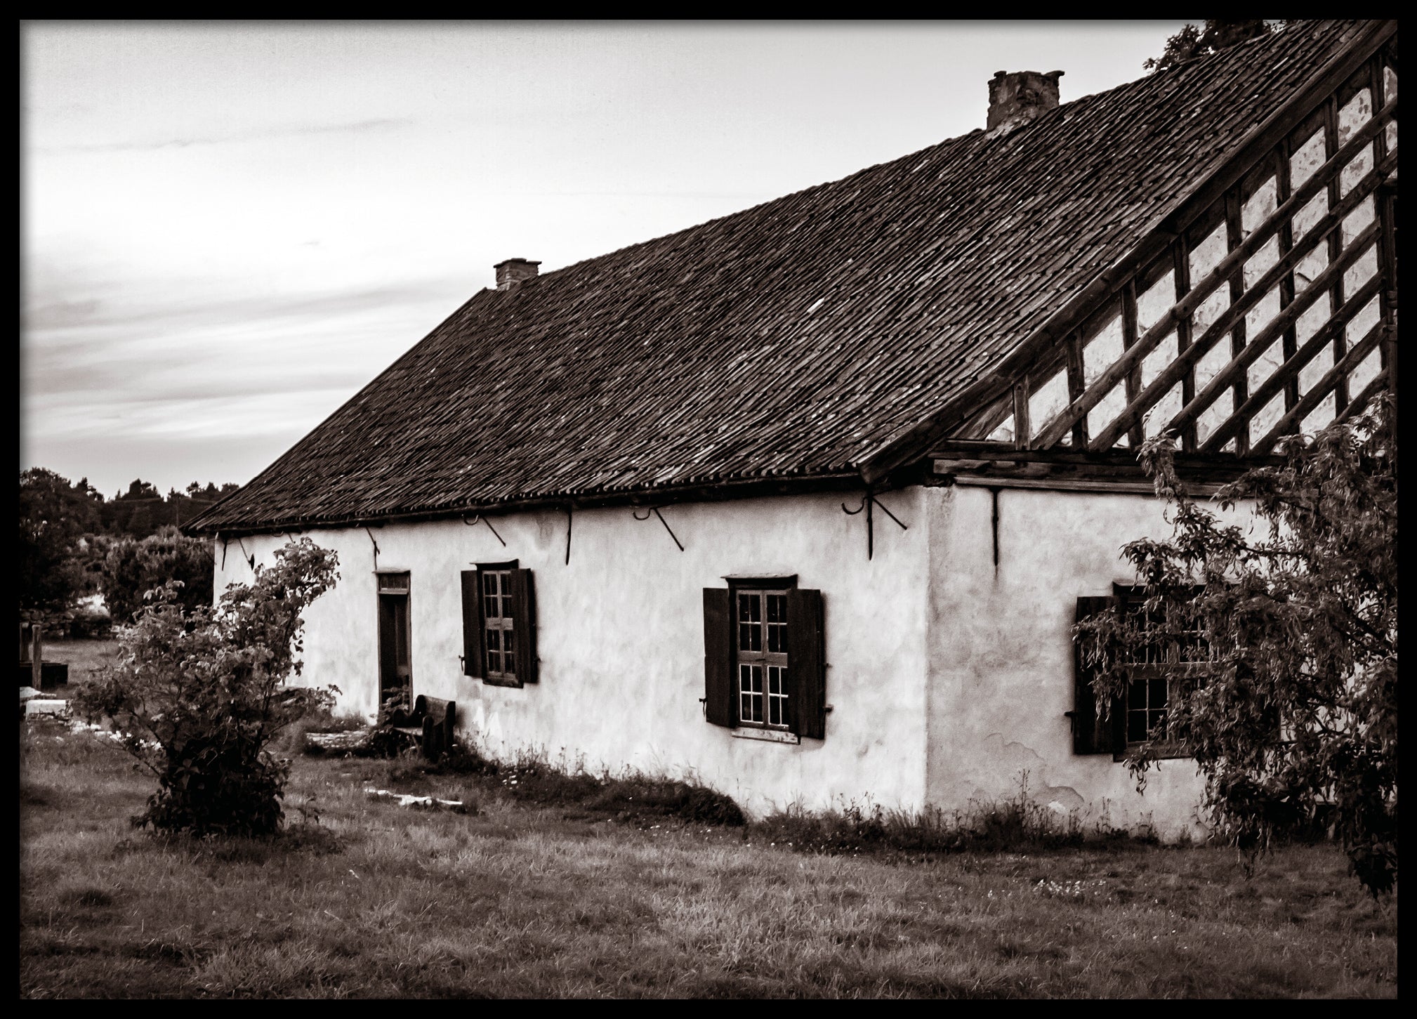
[[[218,591],[336,548],[303,682],[455,699],[493,755],[757,811],[962,808],[1026,770],[1187,828],[1195,767],[1136,794],[1070,628],[1169,533],[1146,437],[1213,485],[1396,377],[1396,23],[1297,23],[1068,103],[1000,72],[985,129],[509,259],[190,530]]]

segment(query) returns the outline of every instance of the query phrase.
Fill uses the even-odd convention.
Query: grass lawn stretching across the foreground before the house
[[[828,856],[354,758],[296,761],[282,840],[164,840],[122,751],[20,743],[27,998],[1397,993],[1396,897],[1331,846]]]

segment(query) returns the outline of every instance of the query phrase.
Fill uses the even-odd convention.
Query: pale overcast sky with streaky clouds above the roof
[[[21,34],[21,468],[245,483],[493,285],[1063,102],[1179,23],[153,24]]]

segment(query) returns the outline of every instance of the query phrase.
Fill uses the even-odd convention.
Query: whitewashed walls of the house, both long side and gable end
[[[849,499],[854,509],[860,496]],[[856,801],[969,809],[1030,795],[1085,823],[1153,825],[1165,838],[1203,832],[1200,778],[1163,761],[1138,794],[1111,755],[1073,754],[1073,648],[1080,595],[1131,582],[1121,546],[1165,536],[1151,496],[999,493],[999,565],[990,493],[913,488],[883,496],[908,526],[833,495],[745,499],[663,510],[628,507],[370,529],[378,565],[411,574],[415,693],[451,697],[459,726],[502,760],[537,754],[565,765],[694,777],[751,812]],[[306,614],[303,682],[337,685],[340,704],[376,711],[377,598],[364,530],[310,536],[340,556],[339,585]],[[217,547],[217,588],[249,580],[244,551],[269,561],[283,537]],[[461,673],[459,571],[516,558],[536,571],[540,683],[485,686]],[[735,738],[703,720],[704,587],[728,574],[798,574],[826,608],[826,740],[785,745]]]

